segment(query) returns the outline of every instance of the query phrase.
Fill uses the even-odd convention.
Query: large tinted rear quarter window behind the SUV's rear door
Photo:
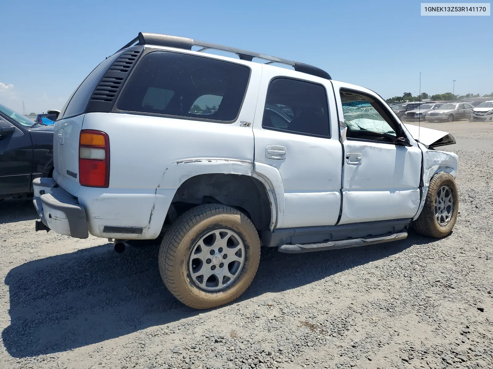
[[[238,117],[249,76],[244,65],[155,51],[142,58],[117,109],[231,122]]]

